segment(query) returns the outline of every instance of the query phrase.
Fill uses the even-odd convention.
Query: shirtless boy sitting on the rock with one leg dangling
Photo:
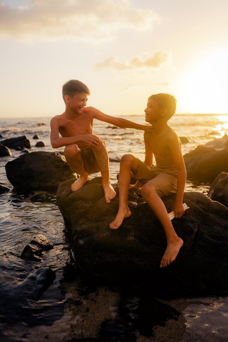
[[[144,133],[145,161],[143,163],[133,155],[122,157],[119,172],[119,211],[115,220],[110,223],[111,229],[117,229],[123,219],[131,215],[128,208],[129,189],[138,189],[143,184],[141,194],[157,215],[167,239],[167,247],[160,267],[173,262],[183,245],[183,240],[175,233],[161,200],[162,196],[176,193],[172,210],[176,218],[184,214],[185,163],[179,137],[176,131],[167,124],[175,110],[176,99],[172,95],[156,94],[148,98],[145,121],[153,125],[153,131]],[[152,165],[153,154],[156,166]],[[137,180],[135,185],[130,185],[131,177]]]

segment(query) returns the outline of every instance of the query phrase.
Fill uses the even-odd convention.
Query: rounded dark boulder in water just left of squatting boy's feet
[[[57,187],[75,177],[65,157],[58,152],[32,152],[5,165],[8,180],[15,188],[42,189]]]

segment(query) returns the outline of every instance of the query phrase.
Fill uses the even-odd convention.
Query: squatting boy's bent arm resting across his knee
[[[56,117],[51,119],[50,140],[53,148],[63,147],[66,145],[77,144],[79,142],[89,144],[91,146],[99,145],[100,139],[94,134],[74,135],[68,137],[59,137],[59,121]]]

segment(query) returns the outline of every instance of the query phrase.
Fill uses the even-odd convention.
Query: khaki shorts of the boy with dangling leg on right
[[[160,168],[155,165],[149,168],[138,159],[138,172],[132,175],[132,178],[142,184],[153,184],[159,197],[175,194],[177,190],[177,170],[175,168]]]

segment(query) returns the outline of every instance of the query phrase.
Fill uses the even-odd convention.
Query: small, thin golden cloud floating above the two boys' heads
[[[169,54],[159,50],[156,51],[153,56],[147,57],[144,61],[139,57],[135,57],[131,60],[119,62],[117,57],[109,57],[104,61],[95,64],[95,69],[115,68],[118,70],[126,70],[140,67],[158,68],[162,63],[167,62],[168,60]]]

